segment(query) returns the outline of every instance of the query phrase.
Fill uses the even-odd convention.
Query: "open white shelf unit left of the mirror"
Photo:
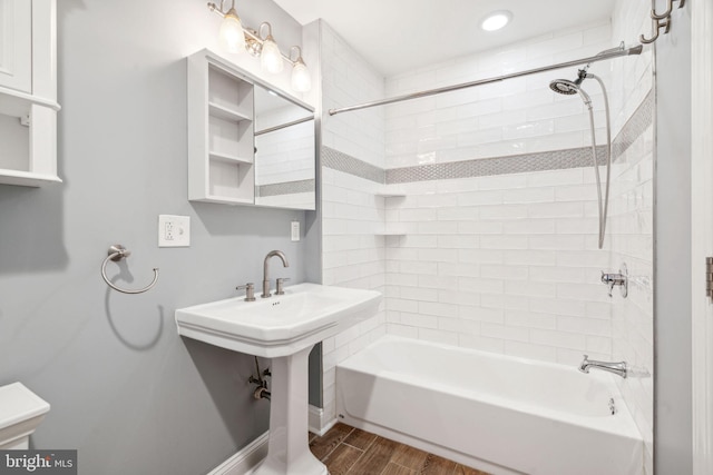
[[[188,199],[255,202],[254,86],[208,50],[188,57]]]

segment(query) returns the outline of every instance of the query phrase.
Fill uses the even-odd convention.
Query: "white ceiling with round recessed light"
[[[324,19],[385,77],[550,31],[608,19],[615,0],[275,0],[300,23]],[[481,20],[509,10],[487,32]]]

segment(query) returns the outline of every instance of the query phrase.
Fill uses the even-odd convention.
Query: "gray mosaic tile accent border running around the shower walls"
[[[614,138],[612,142],[613,161],[618,159],[648,129],[653,119],[654,93],[649,91],[624,125],[622,131]],[[605,146],[597,146],[597,162],[599,165],[606,164]],[[404,184],[589,167],[592,165],[592,148],[582,147],[384,170],[339,150],[322,147],[322,165],[378,184]]]

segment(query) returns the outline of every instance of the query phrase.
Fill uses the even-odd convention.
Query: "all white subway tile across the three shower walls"
[[[612,23],[420,68],[387,78],[385,88],[325,27],[324,100],[331,105],[325,108],[593,56],[622,40],[635,46],[647,18],[646,1],[621,2]],[[334,365],[384,331],[572,367],[586,353],[652,372],[653,128],[651,110],[641,108],[652,107],[651,65],[645,51],[590,69],[607,86],[613,137],[621,147],[602,250],[590,167],[451,179],[427,175],[424,181],[389,185],[403,196],[388,198],[374,196],[383,190],[377,181],[323,168],[324,281],[380,288],[385,296],[384,313],[324,343],[328,414]],[[358,72],[350,75],[350,68]],[[385,168],[387,177],[404,167],[588,147],[580,98],[548,88],[551,79],[575,75],[576,68],[565,69],[335,116],[325,121],[324,145]],[[604,97],[594,80],[585,88],[603,144]],[[632,125],[633,116],[639,122]],[[375,236],[394,230],[402,235]],[[609,298],[599,281],[602,270],[616,271],[623,260],[633,276],[626,300],[616,289]],[[649,474],[652,380],[619,382],[646,442]]]

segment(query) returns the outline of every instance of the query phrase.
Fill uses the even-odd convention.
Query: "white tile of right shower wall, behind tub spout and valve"
[[[617,2],[613,16],[615,38],[635,44],[649,29],[651,3],[643,0]],[[652,51],[613,63],[613,120],[621,130],[653,89]],[[653,102],[653,99],[651,99]],[[653,106],[652,106],[653,109]],[[655,111],[652,111],[655,113]],[[637,127],[641,128],[641,127]],[[644,437],[644,466],[654,473],[654,308],[653,308],[653,175],[654,128],[648,125],[635,139],[612,174],[612,207],[608,232],[611,268],[626,263],[631,275],[626,299],[614,294],[612,356],[625,359],[637,373],[652,374],[618,379],[619,389]]]

